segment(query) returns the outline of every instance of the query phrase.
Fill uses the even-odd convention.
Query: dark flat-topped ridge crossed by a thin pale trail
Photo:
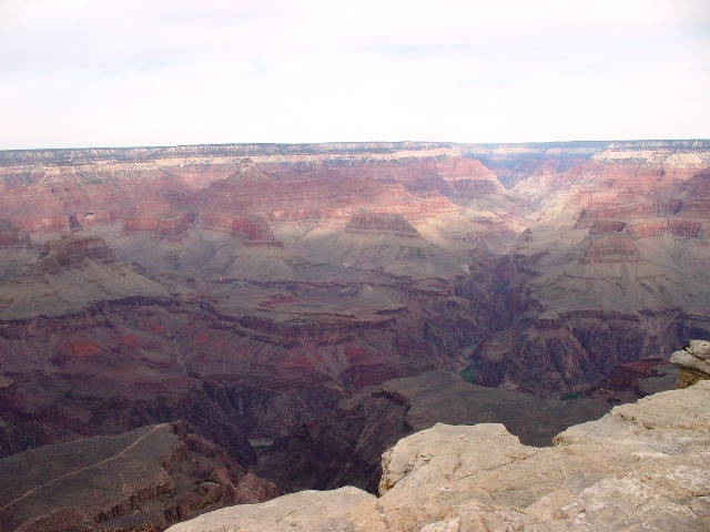
[[[209,510],[276,495],[275,485],[182,422],[0,460],[2,530],[163,530]]]

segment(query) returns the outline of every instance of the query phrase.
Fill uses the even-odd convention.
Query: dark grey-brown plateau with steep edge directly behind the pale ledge
[[[610,408],[605,398],[541,399],[476,386],[449,371],[428,371],[388,380],[341,401],[333,412],[276,439],[261,452],[255,471],[284,491],[347,484],[375,493],[382,452],[437,422],[496,420],[526,444],[549,446],[559,430]]]

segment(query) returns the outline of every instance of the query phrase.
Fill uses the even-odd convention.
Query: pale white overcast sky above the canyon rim
[[[710,0],[0,0],[0,149],[710,137]]]

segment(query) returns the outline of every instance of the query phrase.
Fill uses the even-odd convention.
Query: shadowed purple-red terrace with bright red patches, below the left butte
[[[347,301],[342,286],[328,290]],[[399,305],[324,316],[328,309],[305,296],[300,301],[302,294],[271,291],[258,299],[262,314],[278,321],[170,296],[83,301],[77,313],[0,320],[8,376],[0,386],[0,456],[184,419],[248,463],[255,454],[247,434],[286,436],[332,411],[346,390],[454,367],[444,348],[422,340],[425,324]],[[369,296],[352,297],[366,304]],[[286,314],[290,305],[314,314]],[[353,475],[369,477],[357,468]]]

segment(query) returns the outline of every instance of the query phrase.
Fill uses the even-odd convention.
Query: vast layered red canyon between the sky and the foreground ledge
[[[4,151],[0,178],[2,530],[374,493],[405,436],[548,446],[710,339],[710,141]]]

